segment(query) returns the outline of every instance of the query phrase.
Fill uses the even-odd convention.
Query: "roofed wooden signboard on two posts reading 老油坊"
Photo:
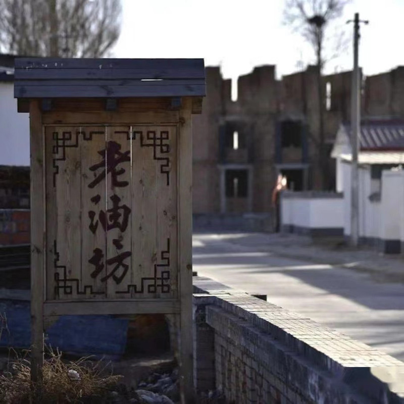
[[[17,59],[30,113],[32,377],[44,320],[178,317],[192,402],[191,114],[203,60]]]

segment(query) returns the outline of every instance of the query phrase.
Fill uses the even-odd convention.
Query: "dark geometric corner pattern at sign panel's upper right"
[[[166,174],[167,185],[170,185],[170,158],[161,157],[161,155],[170,153],[169,134],[166,130],[159,132],[160,135],[154,130],[148,130],[146,139],[144,139],[142,131],[133,131],[132,139],[136,139],[136,135],[140,135],[140,147],[153,147],[153,159],[161,162],[160,172]]]

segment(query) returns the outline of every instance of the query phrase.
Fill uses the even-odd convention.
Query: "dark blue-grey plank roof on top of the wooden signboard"
[[[205,96],[203,59],[17,58],[16,98]]]

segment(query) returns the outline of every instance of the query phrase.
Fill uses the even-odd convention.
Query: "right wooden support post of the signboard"
[[[192,126],[191,99],[181,110],[178,139],[178,245],[180,281],[180,380],[182,402],[195,400],[192,335]]]

